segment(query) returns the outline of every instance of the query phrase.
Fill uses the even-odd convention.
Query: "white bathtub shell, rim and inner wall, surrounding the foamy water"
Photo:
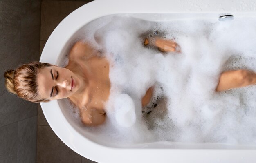
[[[138,2],[139,1],[139,2]],[[218,2],[219,1],[219,2]],[[145,20],[191,18],[216,19],[231,13],[236,17],[256,16],[256,3],[249,0],[96,0],[85,4],[67,16],[53,31],[43,49],[41,62],[60,65],[70,42],[84,25],[111,14],[132,13]],[[233,2],[234,1],[234,2]],[[256,147],[249,145],[184,144],[155,142],[118,146],[92,136],[71,120],[61,100],[41,103],[45,117],[56,135],[78,154],[100,163],[136,162],[255,162]]]

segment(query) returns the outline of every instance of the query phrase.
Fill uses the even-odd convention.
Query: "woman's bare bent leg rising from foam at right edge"
[[[256,73],[248,70],[225,71],[220,76],[216,91],[245,87],[256,83]]]

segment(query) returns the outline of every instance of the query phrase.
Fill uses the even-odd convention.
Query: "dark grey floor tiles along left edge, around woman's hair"
[[[41,0],[0,0],[0,163],[36,161],[37,106],[11,94],[3,74],[39,60]]]

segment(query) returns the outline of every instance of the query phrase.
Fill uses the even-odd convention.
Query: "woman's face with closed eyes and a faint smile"
[[[47,100],[75,95],[81,86],[81,81],[72,71],[57,66],[49,66],[40,70],[37,82],[40,96]]]

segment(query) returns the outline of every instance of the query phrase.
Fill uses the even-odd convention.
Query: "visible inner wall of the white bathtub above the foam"
[[[182,14],[128,14],[131,17],[139,18],[148,21],[168,21],[168,20],[191,20],[191,19],[211,19],[218,21],[219,16],[229,14],[229,13],[182,13]],[[236,17],[252,17],[252,14],[235,14],[233,13],[234,18]],[[86,25],[84,25],[86,26]],[[66,58],[68,51],[72,47],[72,43],[80,38],[80,33],[84,27],[81,27],[77,30],[72,37],[66,42],[63,46],[63,49],[58,56],[56,65],[61,66],[63,64],[64,58]],[[116,144],[115,142],[105,141],[96,134],[92,134],[88,127],[85,127],[81,122],[79,122],[72,114],[70,107],[67,105],[67,100],[58,100],[58,105],[63,113],[64,117],[67,119],[68,123],[82,136],[89,139],[90,141],[97,143],[99,145],[104,145],[107,147],[115,148],[177,148],[177,149],[256,149],[255,145],[226,145],[226,144],[216,144],[216,143],[182,143],[182,142],[168,142],[168,141],[159,141],[159,142],[149,142],[149,143],[138,143],[138,144]]]

